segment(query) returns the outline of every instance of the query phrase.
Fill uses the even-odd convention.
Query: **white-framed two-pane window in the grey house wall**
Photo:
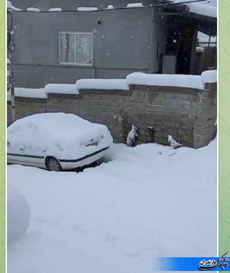
[[[59,32],[59,64],[93,65],[91,32]]]

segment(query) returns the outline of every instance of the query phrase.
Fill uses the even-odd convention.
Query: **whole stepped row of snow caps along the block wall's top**
[[[44,88],[15,87],[16,97],[48,98],[47,94],[79,94],[80,89],[129,90],[130,84],[174,86],[205,89],[206,83],[217,82],[217,70],[204,71],[201,75],[145,74],[134,72],[126,79],[80,79],[76,84],[47,84]],[[10,100],[7,92],[7,100]]]

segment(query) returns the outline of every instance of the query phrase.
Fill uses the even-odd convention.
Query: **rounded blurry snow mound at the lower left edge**
[[[7,242],[8,244],[26,235],[30,223],[30,209],[24,195],[18,190],[7,191]]]

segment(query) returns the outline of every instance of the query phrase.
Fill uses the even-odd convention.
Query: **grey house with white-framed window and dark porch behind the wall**
[[[122,8],[137,2],[142,5]],[[125,78],[136,71],[193,73],[197,31],[215,36],[217,18],[172,2],[12,0],[15,51],[10,58],[15,86]],[[48,11],[51,8],[62,12]]]

